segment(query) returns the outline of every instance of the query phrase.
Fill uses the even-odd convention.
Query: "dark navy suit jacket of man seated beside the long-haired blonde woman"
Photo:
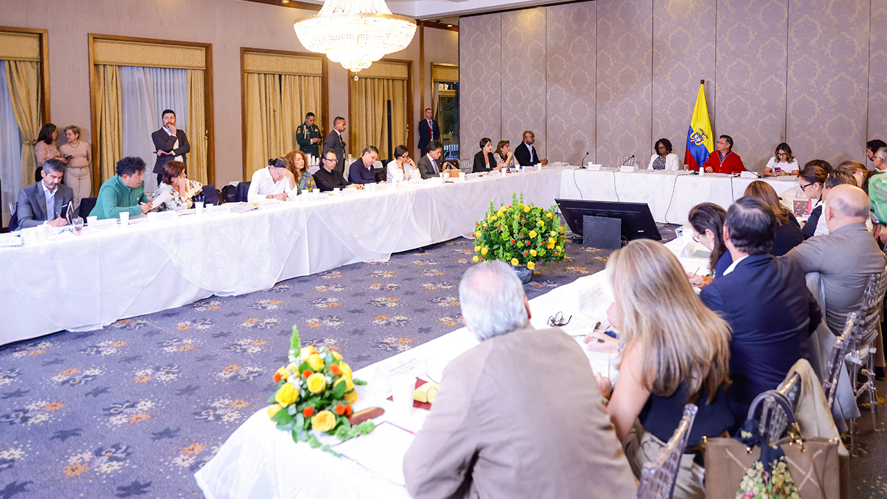
[[[751,400],[776,388],[805,353],[802,345],[821,321],[820,308],[801,266],[770,254],[746,257],[699,297],[733,330],[727,398],[739,425]]]

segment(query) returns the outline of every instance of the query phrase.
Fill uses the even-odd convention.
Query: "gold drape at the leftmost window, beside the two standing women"
[[[28,60],[7,60],[6,82],[12,113],[21,132],[21,185],[34,183],[37,160],[34,145],[42,125],[40,109],[40,63]]]

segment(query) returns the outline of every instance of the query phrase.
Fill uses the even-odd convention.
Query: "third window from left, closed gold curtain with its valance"
[[[323,130],[323,65],[318,56],[243,51],[244,176],[298,149],[296,130],[315,114]]]

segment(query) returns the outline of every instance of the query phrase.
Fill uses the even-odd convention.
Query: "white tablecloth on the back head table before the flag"
[[[686,224],[687,213],[700,202],[714,202],[726,210],[742,197],[754,178],[689,171],[566,169],[561,173],[561,198],[590,201],[646,202],[659,223]],[[797,197],[797,178],[762,178],[776,194]]]

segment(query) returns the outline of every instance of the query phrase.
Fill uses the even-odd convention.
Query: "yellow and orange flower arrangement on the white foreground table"
[[[372,421],[352,426],[348,420],[351,404],[357,400],[354,385],[366,382],[352,378],[351,368],[339,352],[326,346],[303,347],[295,326],[290,338],[289,364],[274,373],[274,383],[278,388],[268,399],[268,416],[280,430],[293,432],[296,442],[308,442],[311,448],[335,454],[328,445],[321,445],[310,430],[326,432],[339,440],[373,432]]]

